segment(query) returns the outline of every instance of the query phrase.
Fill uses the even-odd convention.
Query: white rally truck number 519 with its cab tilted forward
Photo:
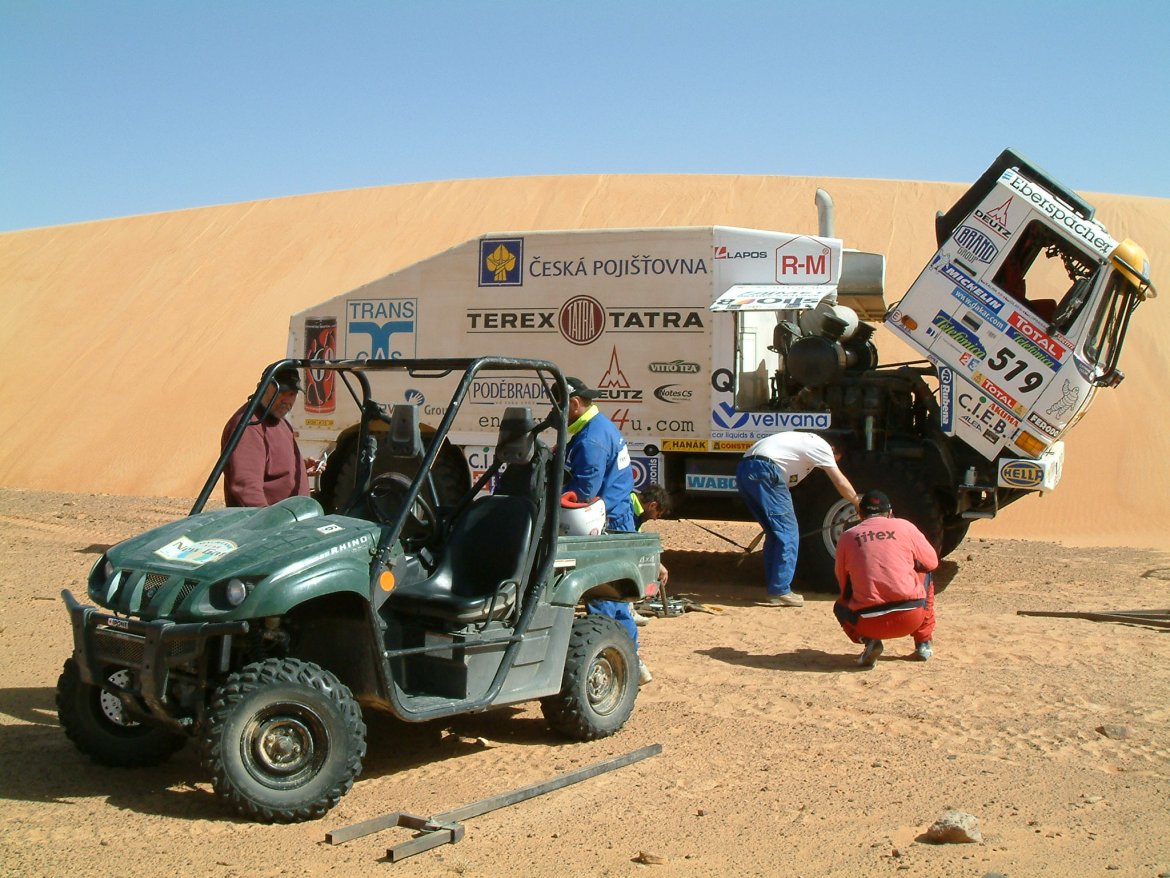
[[[880,487],[943,551],[1060,479],[1062,438],[1097,387],[1121,379],[1130,315],[1154,295],[1144,252],[1119,241],[1074,192],[1012,151],[935,220],[938,251],[887,307],[885,259],[832,234],[724,226],[486,234],[343,293],[290,323],[289,356],[545,358],[604,391],[639,486],[656,481],[695,514],[744,514],[735,465],[778,430],[847,450],[842,469]],[[885,324],[925,359],[883,365]],[[291,416],[303,450],[328,452],[326,502],[362,453],[359,395],[305,375]],[[404,387],[424,433],[442,406]],[[484,376],[442,448],[440,493],[490,466],[509,405],[535,383]],[[797,488],[800,570],[832,583],[852,508],[823,474]],[[696,508],[697,507],[697,508]]]

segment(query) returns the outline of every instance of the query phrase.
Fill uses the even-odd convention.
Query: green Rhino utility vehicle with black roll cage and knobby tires
[[[344,508],[297,496],[204,510],[289,366],[344,385],[340,404],[360,412]],[[413,387],[392,405],[371,397],[370,376],[386,371]],[[508,409],[490,465],[440,502],[436,461],[483,376],[541,382],[546,409]],[[415,403],[439,392],[450,402],[424,441]],[[274,363],[191,514],[111,547],[89,576],[96,606],[62,592],[74,631],[57,681],[66,734],[94,761],[128,767],[194,738],[219,798],[261,822],[337,804],[362,770],[366,708],[422,722],[539,699],[559,733],[613,734],[634,707],[638,657],[615,622],[581,608],[653,595],[660,544],[559,534],[566,400],[546,361]],[[386,455],[393,465],[373,478]]]

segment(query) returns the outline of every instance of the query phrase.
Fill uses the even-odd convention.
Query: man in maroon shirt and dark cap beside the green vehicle
[[[292,410],[301,382],[296,369],[281,369],[269,384],[252,423],[223,469],[223,501],[227,506],[271,506],[290,496],[309,493],[308,476],[318,461],[301,458],[292,427],[284,416]],[[243,417],[245,403],[228,420],[220,437],[220,450]]]

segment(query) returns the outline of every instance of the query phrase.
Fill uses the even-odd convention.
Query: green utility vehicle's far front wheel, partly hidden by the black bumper
[[[111,668],[106,678],[125,687],[129,671]],[[57,678],[57,719],[78,750],[115,768],[160,764],[187,742],[186,735],[164,726],[129,719],[115,695],[82,681],[73,659]]]

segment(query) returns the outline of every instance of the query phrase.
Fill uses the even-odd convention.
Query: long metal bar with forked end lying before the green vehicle
[[[612,771],[615,768],[622,768],[634,762],[640,762],[648,756],[656,756],[661,752],[662,745],[653,743],[649,747],[642,747],[641,749],[633,750],[624,756],[615,756],[614,759],[606,760],[605,762],[598,762],[594,766],[589,766],[577,771],[570,771],[569,774],[563,774],[559,777],[553,777],[552,780],[543,781],[541,783],[534,783],[529,787],[522,787],[519,789],[511,790],[510,793],[501,793],[498,796],[482,798],[479,802],[466,804],[462,808],[436,814],[434,817],[420,817],[407,811],[384,814],[380,817],[373,817],[372,819],[363,821],[362,823],[353,823],[349,826],[335,829],[332,832],[326,832],[325,842],[329,844],[343,844],[345,842],[351,842],[355,838],[380,832],[384,829],[391,829],[393,826],[406,826],[407,829],[418,830],[419,835],[410,842],[404,842],[402,844],[397,844],[393,848],[386,849],[386,858],[391,863],[397,863],[400,859],[412,857],[415,853],[422,853],[424,851],[438,848],[441,844],[455,844],[461,841],[463,838],[463,825],[460,821],[467,821],[472,817],[479,817],[481,814],[487,814],[488,811],[495,811],[500,808],[507,808],[508,805],[524,802],[529,798],[535,798],[536,796],[543,796],[545,793],[552,793],[553,790],[558,790],[563,787],[586,781],[590,777],[596,777],[599,774]]]

